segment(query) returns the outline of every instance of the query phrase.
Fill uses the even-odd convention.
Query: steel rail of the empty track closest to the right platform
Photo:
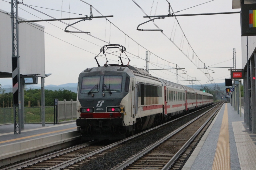
[[[223,106],[223,103],[222,103]],[[208,119],[204,124],[194,133],[192,137],[189,138],[189,140],[180,148],[180,150],[170,159],[165,166],[161,170],[169,170],[172,165],[176,162],[176,160],[180,157],[180,155],[188,148],[188,146],[191,144],[191,142],[197,137],[197,135],[201,132],[201,130],[206,126],[206,124],[212,119],[212,117],[216,114],[216,112],[219,112],[220,108],[218,108]]]

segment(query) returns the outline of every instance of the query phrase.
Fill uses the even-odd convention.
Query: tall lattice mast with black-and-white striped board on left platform
[[[20,55],[18,2],[11,0],[12,5],[12,96],[14,134],[21,134],[20,128]]]

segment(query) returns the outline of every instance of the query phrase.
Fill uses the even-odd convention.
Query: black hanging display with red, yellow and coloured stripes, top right
[[[256,4],[241,4],[241,36],[256,35]]]

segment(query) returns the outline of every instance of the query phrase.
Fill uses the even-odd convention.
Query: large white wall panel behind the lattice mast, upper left
[[[0,72],[12,73],[11,18],[3,12],[6,11],[0,12]],[[45,75],[44,26],[20,23],[19,38],[20,74]]]

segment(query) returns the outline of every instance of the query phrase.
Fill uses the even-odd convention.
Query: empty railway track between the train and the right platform
[[[181,169],[185,160],[218,113],[223,103],[196,117],[179,129],[163,137],[142,152],[124,161],[113,170],[121,169]],[[207,126],[208,125],[208,126]]]

